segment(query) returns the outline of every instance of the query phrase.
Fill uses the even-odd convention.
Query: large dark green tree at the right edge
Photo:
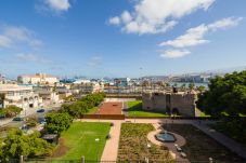
[[[246,113],[246,71],[210,80],[209,90],[198,96],[197,107],[211,116]]]

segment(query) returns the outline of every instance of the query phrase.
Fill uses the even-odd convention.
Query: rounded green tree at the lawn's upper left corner
[[[51,112],[46,116],[46,130],[48,133],[61,134],[70,126],[73,119],[66,112]]]

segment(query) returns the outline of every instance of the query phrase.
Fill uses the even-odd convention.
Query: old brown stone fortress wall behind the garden
[[[143,93],[143,109],[187,117],[195,116],[196,93]]]

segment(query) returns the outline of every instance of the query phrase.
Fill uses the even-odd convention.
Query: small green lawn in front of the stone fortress
[[[142,110],[142,100],[128,103],[128,117],[169,117],[161,112],[150,112]]]

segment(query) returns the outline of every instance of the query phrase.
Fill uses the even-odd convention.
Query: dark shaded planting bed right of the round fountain
[[[167,130],[185,138],[186,144],[182,149],[191,162],[208,161],[210,157],[215,162],[243,162],[243,159],[191,124],[169,124]]]

